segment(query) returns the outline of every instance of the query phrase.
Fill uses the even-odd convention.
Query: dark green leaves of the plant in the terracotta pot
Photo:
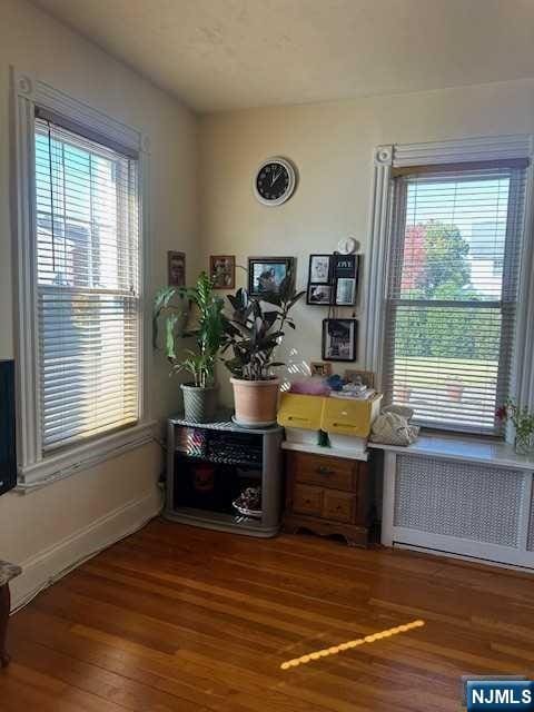
[[[231,316],[225,320],[222,358],[226,367],[236,378],[246,380],[268,380],[270,369],[284,366],[274,359],[276,348],[281,344],[286,327],[295,329],[289,310],[303,297],[296,291],[293,275],[281,281],[278,291],[251,297],[246,289],[228,295]]]

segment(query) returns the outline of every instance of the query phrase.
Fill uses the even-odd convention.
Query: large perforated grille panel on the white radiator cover
[[[395,526],[517,548],[524,476],[498,467],[400,455]]]

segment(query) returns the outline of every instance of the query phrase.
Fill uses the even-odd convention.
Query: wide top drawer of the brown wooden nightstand
[[[325,455],[293,453],[297,482],[354,492],[357,481],[357,463]]]

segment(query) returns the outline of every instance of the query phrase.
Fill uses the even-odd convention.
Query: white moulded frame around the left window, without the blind
[[[149,139],[105,113],[73,99],[31,75],[11,68],[13,95],[13,248],[14,342],[17,364],[17,445],[19,487],[55,482],[90,465],[154,439],[148,375],[151,365],[150,315],[146,299],[150,274],[148,250]],[[80,134],[123,147],[138,156],[139,170],[139,421],[121,431],[103,434],[44,455],[40,432],[40,384],[37,319],[36,255],[36,108],[61,117]],[[76,129],[75,129],[76,130]]]

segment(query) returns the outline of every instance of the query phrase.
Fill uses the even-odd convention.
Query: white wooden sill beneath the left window
[[[33,465],[19,468],[19,484],[16,492],[21,494],[33,492],[146,445],[155,439],[155,426],[156,421],[140,423],[119,433],[103,436],[98,441],[72,447],[65,453],[50,455]]]

